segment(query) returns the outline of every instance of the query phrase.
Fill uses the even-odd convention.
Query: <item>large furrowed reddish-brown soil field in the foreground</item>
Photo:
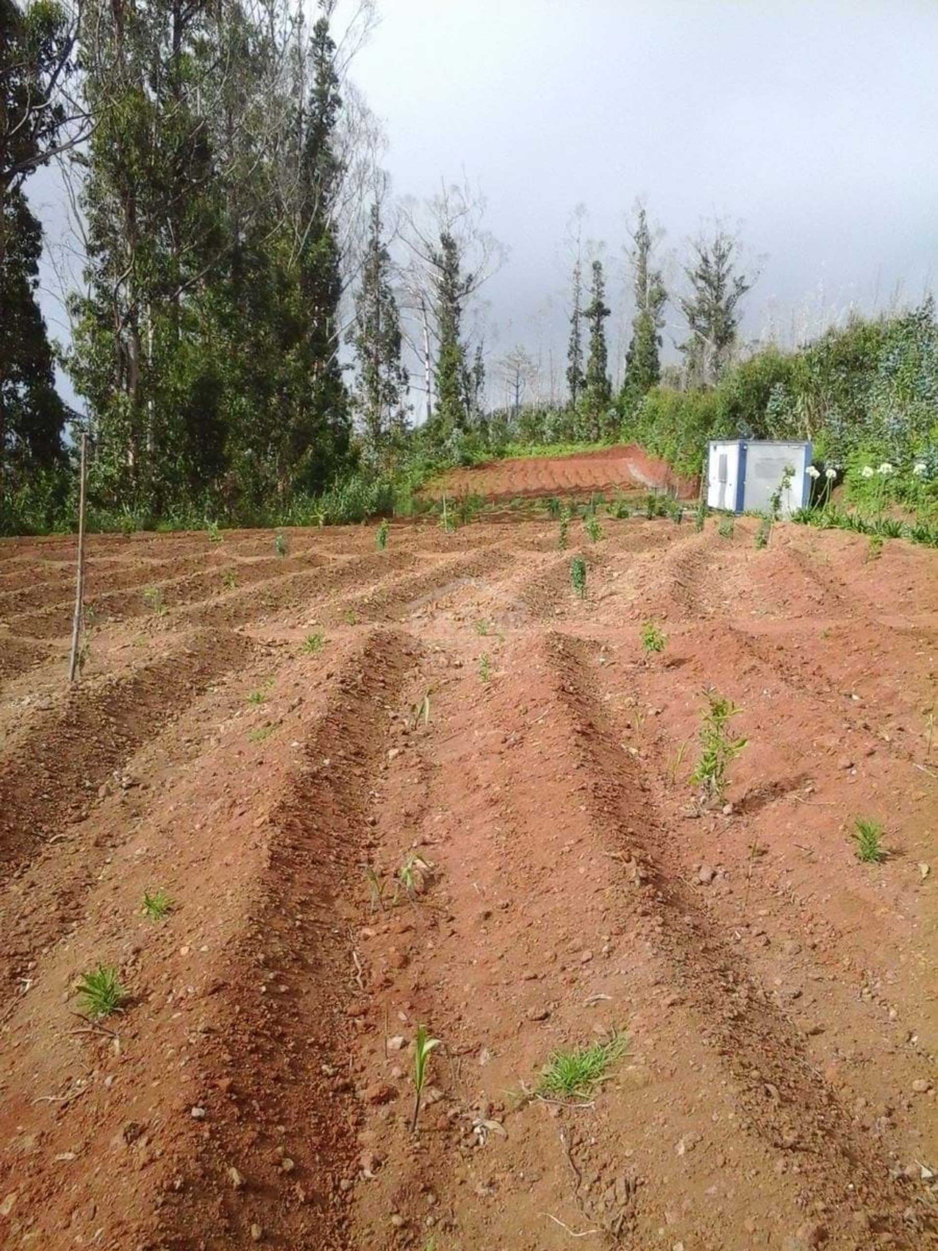
[[[938,559],[603,525],[95,537],[71,689],[74,540],[0,544],[4,1248],[935,1245]]]

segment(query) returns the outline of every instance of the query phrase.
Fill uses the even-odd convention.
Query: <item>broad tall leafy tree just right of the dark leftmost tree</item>
[[[81,205],[88,294],[73,300],[70,370],[98,435],[109,504],[194,502],[225,465],[219,362],[200,315],[218,275],[221,186],[204,108],[208,5],[88,0],[85,96],[96,118]]]

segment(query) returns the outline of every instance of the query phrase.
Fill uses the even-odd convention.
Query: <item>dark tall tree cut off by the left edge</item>
[[[0,508],[34,470],[61,462],[65,405],[39,310],[43,231],[23,185],[45,164],[65,121],[55,84],[71,71],[74,31],[64,10],[24,15],[0,0]]]

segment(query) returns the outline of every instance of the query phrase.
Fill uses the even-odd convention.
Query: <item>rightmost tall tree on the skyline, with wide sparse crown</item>
[[[737,274],[739,244],[717,223],[712,236],[690,244],[690,264],[684,274],[690,284],[680,299],[690,335],[680,350],[692,383],[713,384],[729,364],[739,329],[739,300],[754,279]]]

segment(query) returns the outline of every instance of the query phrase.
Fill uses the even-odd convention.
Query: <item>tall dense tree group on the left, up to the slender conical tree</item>
[[[296,0],[75,3],[0,0],[0,508],[63,463],[23,194],[54,155],[84,253],[63,364],[95,505],[234,517],[324,489],[356,460],[356,420],[378,453],[408,407],[374,134],[345,95],[334,0],[311,26]]]

